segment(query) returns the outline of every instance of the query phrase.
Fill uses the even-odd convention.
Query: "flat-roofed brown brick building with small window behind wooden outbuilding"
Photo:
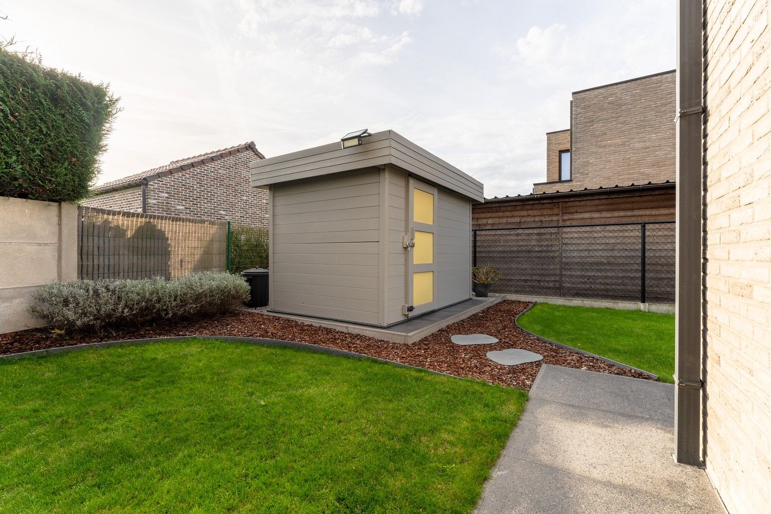
[[[675,71],[573,93],[571,128],[546,135],[533,193],[675,180]]]

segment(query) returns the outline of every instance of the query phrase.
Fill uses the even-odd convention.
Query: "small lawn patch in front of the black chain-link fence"
[[[552,341],[649,371],[663,382],[674,381],[673,314],[536,304],[519,324]]]

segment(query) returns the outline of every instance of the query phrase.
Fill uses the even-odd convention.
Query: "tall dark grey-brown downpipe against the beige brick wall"
[[[682,113],[702,106],[703,5],[701,0],[678,0],[677,7],[677,112]],[[675,122],[680,184],[675,229],[675,461],[702,465],[702,115],[694,110]]]

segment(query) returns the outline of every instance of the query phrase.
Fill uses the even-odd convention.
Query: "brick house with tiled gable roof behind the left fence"
[[[174,160],[103,183],[82,205],[134,213],[268,226],[268,193],[251,187],[254,142]]]

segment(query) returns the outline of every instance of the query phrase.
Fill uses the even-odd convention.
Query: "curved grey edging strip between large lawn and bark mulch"
[[[457,378],[459,380],[462,380],[462,378],[460,377],[456,377],[455,375],[449,375],[447,373],[442,373],[441,371],[433,371],[426,368],[419,368],[418,366],[403,364],[402,362],[389,361],[387,359],[382,359],[377,357],[370,357],[369,355],[358,354],[353,351],[338,350],[337,348],[330,348],[328,346],[322,346],[320,344],[300,343],[297,341],[284,341],[282,339],[242,338],[239,336],[232,336],[232,335],[222,335],[222,336],[188,335],[188,336],[176,336],[172,338],[145,338],[145,339],[123,339],[121,341],[102,341],[99,343],[73,344],[72,346],[46,348],[45,350],[23,351],[22,353],[18,353],[18,354],[0,355],[0,358],[19,359],[19,358],[25,358],[25,357],[39,357],[43,355],[64,354],[64,353],[69,353],[70,351],[87,350],[89,348],[109,348],[111,346],[123,346],[123,345],[129,345],[129,344],[149,344],[149,343],[159,343],[164,341],[188,341],[190,339],[198,339],[201,341],[229,341],[229,342],[237,342],[237,343],[255,344],[258,346],[269,346],[274,348],[293,348],[295,350],[311,351],[317,354],[334,355],[335,357],[354,358],[357,361],[364,361],[365,359],[369,359],[370,361],[380,362],[382,364],[392,365],[398,368],[411,368],[411,369],[417,369],[422,371],[428,371],[433,375],[443,375],[445,377],[452,377],[452,378]]]

